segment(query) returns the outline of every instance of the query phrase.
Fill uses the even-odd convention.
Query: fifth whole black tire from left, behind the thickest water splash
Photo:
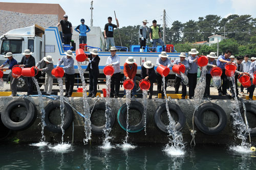
[[[175,125],[175,129],[177,131],[180,131],[185,123],[186,123],[186,117],[183,113],[183,111],[180,109],[180,107],[178,105],[176,105],[175,103],[168,103],[169,106],[169,111],[171,112],[175,112],[178,115],[178,122]],[[166,112],[166,106],[165,103],[161,104],[155,114],[154,114],[154,121],[156,126],[158,127],[158,129],[160,129],[162,132],[168,133],[167,131],[167,127],[161,120],[161,115]]]

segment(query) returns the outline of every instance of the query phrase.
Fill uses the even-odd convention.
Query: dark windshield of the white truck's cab
[[[3,40],[1,54],[12,52],[12,54],[22,53],[22,41],[19,40]]]

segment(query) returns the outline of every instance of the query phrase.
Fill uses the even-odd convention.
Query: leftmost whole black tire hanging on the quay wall
[[[12,110],[23,106],[26,108],[27,115],[25,118],[18,122],[18,119],[14,122],[10,114],[12,113]],[[2,122],[3,124],[11,130],[14,131],[21,131],[29,128],[35,121],[36,118],[36,108],[35,105],[30,102],[28,99],[18,98],[13,99],[10,102],[7,103],[4,107],[4,112],[1,114]]]

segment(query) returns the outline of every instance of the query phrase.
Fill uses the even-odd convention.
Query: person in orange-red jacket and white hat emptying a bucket
[[[124,75],[124,80],[133,80],[134,82],[136,81],[136,73],[137,73],[137,64],[135,63],[136,60],[133,57],[128,57],[125,60],[125,63],[123,65],[123,75]],[[134,83],[134,87],[132,90],[132,95],[133,98],[137,98],[137,87],[136,87],[136,83]],[[126,93],[125,93],[125,89],[124,89],[124,96],[123,98],[125,98]]]

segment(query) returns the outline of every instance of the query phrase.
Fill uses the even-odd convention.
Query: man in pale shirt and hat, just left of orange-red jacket
[[[114,74],[111,77],[111,84],[110,84],[110,97],[118,98],[119,89],[120,89],[120,76],[121,76],[121,68],[120,68],[120,58],[118,55],[116,55],[116,47],[112,46],[110,48],[111,56],[106,59],[106,65],[113,66],[115,71]]]

